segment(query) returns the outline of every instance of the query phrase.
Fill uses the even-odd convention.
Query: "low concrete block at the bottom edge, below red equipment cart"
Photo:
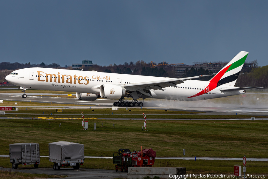
[[[150,178],[160,177],[171,179],[169,175],[184,175],[186,168],[184,167],[129,167],[127,179],[143,179],[149,176]],[[171,175],[171,176],[172,176]],[[178,176],[177,178],[183,178]]]

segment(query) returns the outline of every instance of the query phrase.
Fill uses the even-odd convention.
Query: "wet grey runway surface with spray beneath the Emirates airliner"
[[[266,94],[266,93],[265,93]],[[76,98],[57,98],[57,97],[40,97],[34,95],[58,95],[63,96],[64,94],[42,94],[42,93],[29,93],[27,98],[21,97],[22,93],[0,93],[0,99],[8,100],[8,101],[27,101],[27,102],[39,102],[39,103],[47,103],[48,106],[16,106],[19,108],[90,108],[90,109],[98,109],[98,108],[110,108],[113,106],[114,102],[118,100],[102,100],[97,99],[96,101],[82,101],[77,100]],[[65,94],[66,95],[66,94]],[[53,106],[50,105],[52,102]],[[250,103],[250,102],[248,102]],[[82,106],[60,106],[57,104],[77,104]],[[246,102],[245,102],[246,104]],[[0,104],[1,106],[1,104]],[[15,105],[14,105],[15,106]],[[12,106],[12,107],[14,107]],[[125,107],[122,107],[125,108]],[[128,107],[129,109],[134,107]],[[234,105],[232,102],[230,104],[213,104],[209,100],[203,101],[171,101],[171,100],[157,100],[157,99],[149,99],[144,101],[144,107],[148,109],[165,109],[165,110],[175,110],[175,111],[192,111],[192,112],[207,112],[211,115],[267,115],[268,116],[268,106],[257,105]],[[199,115],[207,115],[207,113],[199,114]]]

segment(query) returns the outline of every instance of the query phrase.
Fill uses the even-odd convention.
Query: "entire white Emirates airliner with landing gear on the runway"
[[[119,99],[114,106],[143,106],[138,99],[157,98],[195,101],[244,94],[248,89],[234,87],[248,52],[240,52],[211,80],[164,78],[125,75],[97,71],[77,71],[51,68],[24,68],[7,75],[6,80],[19,86],[26,98],[26,89],[76,92],[77,99],[94,101],[97,98]],[[124,97],[133,98],[132,102]]]

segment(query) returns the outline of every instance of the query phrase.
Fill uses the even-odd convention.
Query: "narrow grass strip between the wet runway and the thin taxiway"
[[[93,107],[94,108],[94,107]],[[250,119],[252,115],[198,115],[204,112],[190,112],[190,111],[171,111],[168,110],[159,110],[159,109],[146,109],[146,108],[130,108],[129,110],[125,110],[125,108],[120,108],[119,110],[113,111],[112,109],[63,109],[63,112],[56,112],[56,108],[52,109],[19,109],[19,111],[6,111],[5,117],[18,118],[30,117],[30,118],[38,118],[38,117],[53,117],[53,118],[81,118],[81,112],[85,118],[143,118],[142,113],[145,113],[147,119],[155,119],[155,118],[163,118],[163,119],[229,119],[229,118],[246,118]],[[17,114],[18,113],[18,114]],[[52,114],[52,115],[51,115]],[[76,115],[75,115],[76,114]],[[78,115],[77,115],[78,114]],[[267,118],[267,116],[255,116],[255,118]]]

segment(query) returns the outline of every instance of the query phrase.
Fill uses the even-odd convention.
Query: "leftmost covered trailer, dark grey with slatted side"
[[[38,168],[40,164],[39,143],[13,143],[9,145],[9,157],[12,168],[18,165],[34,165]]]

